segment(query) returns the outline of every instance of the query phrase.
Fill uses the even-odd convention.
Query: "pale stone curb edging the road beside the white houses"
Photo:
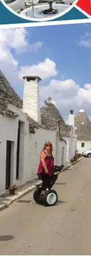
[[[78,159],[75,163],[70,164],[69,166],[67,166],[66,168],[64,168],[63,170],[61,170],[61,172],[64,172],[65,170],[69,169],[72,165],[77,164],[77,162],[79,162],[80,160],[84,159],[84,157],[80,157],[80,159]],[[61,173],[60,173],[61,174]],[[7,203],[4,203],[3,205],[0,206],[0,211],[6,209],[7,207],[9,207],[9,205],[11,205],[13,202],[19,200],[20,198],[24,197],[24,195],[27,195],[29,192],[31,192],[32,190],[35,189],[35,187],[37,185],[40,185],[41,181],[37,182],[35,185],[32,185],[31,187],[29,187],[28,189],[23,190],[22,192],[20,192],[19,195],[15,195],[12,199],[10,199]],[[9,199],[9,197],[6,197],[6,200]]]

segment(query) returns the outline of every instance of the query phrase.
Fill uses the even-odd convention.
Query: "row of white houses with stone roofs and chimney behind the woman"
[[[66,125],[50,98],[40,110],[40,80],[24,77],[22,101],[0,71],[0,193],[37,177],[47,140],[53,144],[56,165],[65,166],[75,154],[72,125]]]

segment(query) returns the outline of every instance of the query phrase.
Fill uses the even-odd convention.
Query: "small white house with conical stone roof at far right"
[[[79,154],[91,149],[91,122],[84,109],[80,109],[74,119],[75,133],[77,136],[77,150]]]

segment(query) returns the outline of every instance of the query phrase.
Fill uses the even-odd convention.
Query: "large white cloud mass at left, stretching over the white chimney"
[[[56,64],[50,59],[45,59],[32,66],[19,67],[17,54],[24,52],[37,52],[43,46],[43,42],[33,42],[30,44],[27,39],[27,30],[20,29],[1,29],[0,30],[0,67],[9,82],[18,84],[22,82],[25,75],[38,75],[41,79],[56,76]],[[12,50],[15,54],[12,54]],[[15,56],[15,57],[14,57]]]

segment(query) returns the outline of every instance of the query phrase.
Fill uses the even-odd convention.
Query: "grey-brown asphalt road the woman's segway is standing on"
[[[33,192],[0,212],[0,255],[91,255],[91,159],[59,175],[58,204]]]

